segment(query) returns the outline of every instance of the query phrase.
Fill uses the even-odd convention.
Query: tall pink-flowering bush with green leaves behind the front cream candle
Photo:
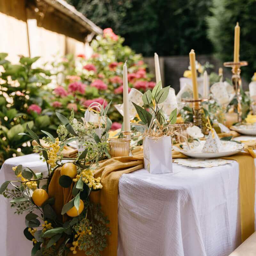
[[[113,122],[121,123],[123,117],[114,105],[123,102],[124,62],[127,61],[129,91],[136,88],[145,92],[155,86],[150,81],[152,75],[147,73],[147,65],[142,56],[123,43],[124,38],[116,35],[111,28],[106,28],[103,35],[92,40],[92,56],[84,56],[82,53],[74,58],[67,56],[68,62],[64,59],[62,63],[64,80],[61,86],[54,89],[52,107],[68,113],[68,108],[73,106],[76,118],[79,118],[84,115],[81,106],[88,106],[95,101],[105,107],[112,101],[108,116]],[[70,103],[76,104],[76,107]]]

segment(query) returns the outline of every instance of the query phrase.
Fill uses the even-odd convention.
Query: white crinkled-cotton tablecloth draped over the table
[[[37,154],[11,158],[1,169],[1,184],[15,178],[12,167],[18,164],[46,172]],[[120,178],[118,256],[226,256],[241,243],[238,164],[173,164],[173,171],[142,169]],[[13,215],[3,196],[0,203],[1,255],[29,256],[25,215]]]

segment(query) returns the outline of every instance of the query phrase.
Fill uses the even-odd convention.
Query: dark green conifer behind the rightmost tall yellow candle
[[[208,38],[216,56],[222,61],[233,61],[234,28],[241,27],[240,60],[247,60],[249,66],[242,68],[242,76],[248,81],[256,71],[256,1],[255,0],[213,0],[207,17]]]

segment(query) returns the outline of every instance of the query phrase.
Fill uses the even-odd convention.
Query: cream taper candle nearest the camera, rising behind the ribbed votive
[[[123,107],[124,107],[124,132],[131,132],[130,112],[129,112],[129,91],[126,61],[123,66]]]

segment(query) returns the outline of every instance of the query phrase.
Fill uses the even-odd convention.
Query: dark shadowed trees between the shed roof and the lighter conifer
[[[111,27],[144,56],[212,52],[205,17],[212,0],[68,0],[101,28]]]

